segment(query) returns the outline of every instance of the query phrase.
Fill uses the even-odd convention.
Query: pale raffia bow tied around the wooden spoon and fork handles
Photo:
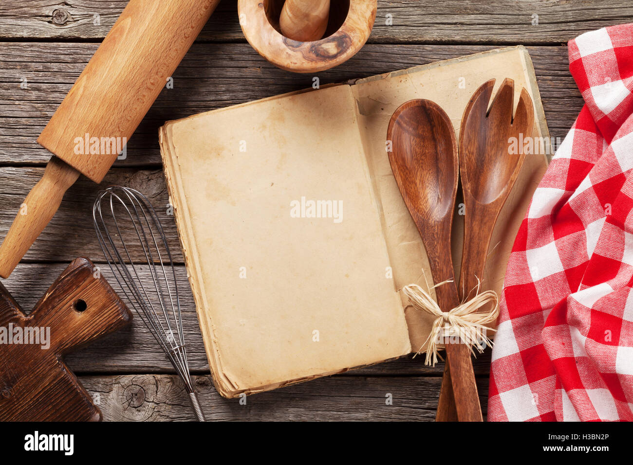
[[[452,280],[436,284],[433,288],[449,282],[452,282]],[[473,355],[475,355],[473,347],[481,354],[484,352],[486,345],[492,345],[492,341],[487,337],[486,332],[488,330],[496,330],[488,328],[486,325],[496,321],[499,316],[499,297],[494,290],[486,290],[480,293],[479,286],[477,286],[477,295],[475,297],[448,312],[442,312],[436,301],[417,284],[404,286],[402,290],[413,308],[437,316],[431,327],[429,337],[415,354],[417,356],[422,352],[427,353],[425,365],[435,366],[437,363],[437,344],[440,342],[439,333],[442,330],[444,330],[444,335],[451,332],[456,337],[459,337],[463,344],[467,344],[470,347],[470,352]],[[480,308],[490,303],[492,303],[492,308],[489,311],[478,312]]]

